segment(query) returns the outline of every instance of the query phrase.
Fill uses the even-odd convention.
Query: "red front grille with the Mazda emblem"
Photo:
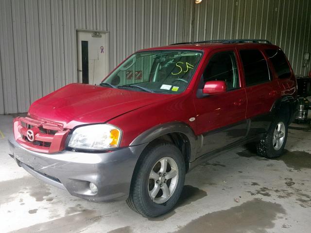
[[[44,153],[64,150],[68,133],[60,123],[31,117],[14,119],[15,140],[29,150]]]

